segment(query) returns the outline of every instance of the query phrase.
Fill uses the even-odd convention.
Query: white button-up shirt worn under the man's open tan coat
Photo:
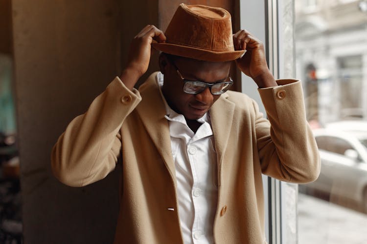
[[[187,176],[188,178],[186,180],[181,179],[178,184],[181,183],[181,186],[178,187],[181,190],[187,189],[186,193],[182,192],[182,200],[187,199],[186,196],[189,196],[191,199],[191,207],[186,205],[185,208],[189,210],[191,208],[191,220],[192,220],[192,226],[191,228],[187,226],[187,218],[186,216],[180,214],[180,222],[184,222],[185,226],[190,228],[191,237],[186,236],[184,234],[183,238],[185,239],[185,243],[191,243],[191,244],[208,244],[212,242],[212,231],[207,231],[207,214],[208,214],[208,201],[211,200],[210,194],[211,191],[205,192],[207,187],[207,173],[210,171],[207,168],[203,169],[204,167],[207,167],[208,164],[211,164],[211,160],[209,160],[209,151],[207,144],[209,142],[209,137],[212,136],[212,131],[210,128],[210,124],[204,121],[204,118],[201,119],[200,122],[202,122],[202,126],[199,127],[198,131],[194,134],[189,127],[187,126],[184,117],[182,115],[178,115],[175,113],[172,113],[171,116],[167,115],[165,118],[170,121],[170,135],[171,135],[171,146],[172,146],[172,156],[175,158],[175,164],[176,166],[181,167],[182,169],[187,169],[183,171],[183,174],[190,173],[190,176]],[[198,120],[199,121],[199,120]],[[172,140],[172,138],[179,139],[177,141],[176,139]],[[177,143],[181,144],[182,149],[179,149],[177,146]],[[202,148],[203,147],[203,148]],[[182,150],[182,151],[181,151]],[[179,159],[176,159],[176,153],[181,151],[182,157],[179,157]],[[186,155],[184,155],[186,154]],[[181,166],[180,166],[181,165]],[[186,165],[186,166],[184,166]],[[177,170],[177,168],[176,168]],[[211,172],[211,171],[210,171]],[[179,174],[180,175],[180,174]],[[191,178],[191,180],[189,179]],[[191,181],[190,186],[187,185],[188,182]],[[190,189],[191,188],[191,189]],[[185,190],[184,190],[185,191]],[[209,193],[210,192],[210,193]],[[210,201],[211,202],[211,201]],[[186,204],[185,202],[180,204]],[[181,206],[181,205],[180,205]],[[186,213],[190,214],[190,213]],[[186,227],[184,227],[186,228]],[[183,230],[184,231],[184,230]],[[187,233],[187,231],[185,231]],[[188,233],[187,233],[188,234]],[[189,241],[188,238],[191,240]]]

